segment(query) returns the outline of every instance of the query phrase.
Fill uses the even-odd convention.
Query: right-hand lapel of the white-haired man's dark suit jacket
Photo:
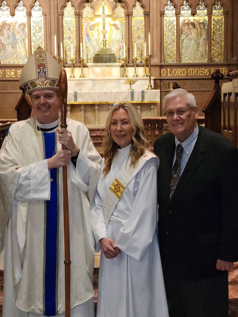
[[[182,175],[179,179],[179,182],[176,186],[175,192],[170,200],[170,204],[173,203],[173,201],[176,199],[177,196],[181,193],[184,186],[188,183],[190,178],[193,176],[194,172],[196,171],[198,165],[203,160],[203,154],[204,154],[204,128],[199,126],[199,133],[198,137],[195,143],[195,146],[192,150],[192,153],[190,154],[190,157],[188,159],[188,162],[182,172]],[[171,175],[171,172],[170,172]]]

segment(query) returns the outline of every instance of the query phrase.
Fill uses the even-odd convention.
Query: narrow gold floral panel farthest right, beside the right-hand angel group
[[[224,15],[220,1],[216,1],[212,9],[212,61],[222,62],[224,57]]]

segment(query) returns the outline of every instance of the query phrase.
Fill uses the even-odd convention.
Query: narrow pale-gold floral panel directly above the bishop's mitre
[[[30,28],[31,51],[33,53],[38,46],[44,48],[43,14],[38,1],[35,1],[34,7],[31,10]]]

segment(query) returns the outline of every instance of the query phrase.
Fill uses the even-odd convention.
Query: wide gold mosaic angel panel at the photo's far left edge
[[[26,8],[19,1],[15,15],[5,1],[0,7],[0,60],[3,64],[24,64],[28,59]]]

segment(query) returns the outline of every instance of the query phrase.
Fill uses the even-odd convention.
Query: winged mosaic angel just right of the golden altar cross
[[[125,26],[121,21],[111,24],[111,34],[109,34],[109,48],[116,58],[123,58],[123,43],[125,41]]]

